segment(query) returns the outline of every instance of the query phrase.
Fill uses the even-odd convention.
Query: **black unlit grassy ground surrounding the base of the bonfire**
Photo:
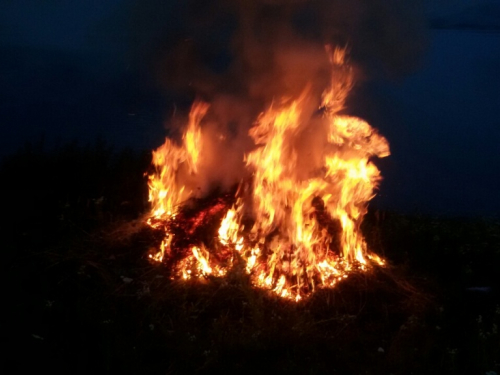
[[[295,304],[150,264],[149,162],[102,142],[3,160],[3,374],[500,373],[499,220],[371,211],[390,265]]]

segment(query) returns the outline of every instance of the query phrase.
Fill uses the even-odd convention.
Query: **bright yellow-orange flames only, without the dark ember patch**
[[[365,121],[338,114],[352,87],[352,69],[345,63],[344,50],[327,52],[333,78],[322,96],[324,116],[312,119],[314,115],[308,113],[308,88],[296,100],[275,104],[259,116],[249,131],[256,148],[245,157],[253,172],[250,202],[238,199],[231,209],[224,208],[227,213],[220,222],[217,244],[210,249],[203,243],[192,245],[179,264],[183,278],[223,276],[238,254],[255,285],[299,300],[317,286],[334,285],[353,266],[365,269],[367,259],[383,263],[367,254],[360,225],[380,180],[370,158],[389,155],[389,145]],[[192,191],[179,183],[178,175],[182,168],[191,175],[198,173],[203,152],[200,123],[207,110],[206,103],[196,102],[184,143],[177,146],[167,139],[153,153],[157,170],[150,177],[152,218],[175,220],[176,207],[192,196]],[[304,164],[309,154],[297,144],[313,120],[324,125],[320,130],[325,129],[322,139],[326,141],[313,145],[321,151],[319,165],[311,162],[311,169],[304,173],[299,161]],[[244,206],[249,203],[254,223],[245,228],[241,222]],[[214,206],[206,214],[214,212],[220,209]],[[155,225],[151,219],[148,222]],[[202,223],[195,222],[188,232],[194,233],[195,226]],[[152,255],[153,259],[162,260],[171,252],[172,237],[167,230],[161,255]],[[228,249],[234,256],[224,264],[217,262],[221,257],[214,254],[227,253]]]

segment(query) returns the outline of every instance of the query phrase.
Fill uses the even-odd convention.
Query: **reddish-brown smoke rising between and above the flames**
[[[417,0],[134,0],[127,9],[132,64],[174,95],[211,103],[202,190],[244,178],[248,129],[273,101],[309,85],[320,102],[326,44],[348,49],[358,81],[411,72],[426,46]],[[316,128],[304,139],[321,138]]]

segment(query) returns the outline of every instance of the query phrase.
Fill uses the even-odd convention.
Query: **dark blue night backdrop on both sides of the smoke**
[[[113,21],[123,4],[0,2],[0,154],[42,136],[49,146],[97,136],[137,149],[163,142],[175,98],[160,93],[131,60],[129,41],[138,31]],[[181,22],[171,13],[166,25]],[[359,115],[392,150],[380,163],[385,180],[377,202],[397,210],[495,215],[500,1],[429,1],[427,14],[432,28],[421,67],[363,89],[370,100],[359,105]]]

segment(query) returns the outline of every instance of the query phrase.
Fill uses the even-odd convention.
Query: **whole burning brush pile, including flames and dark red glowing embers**
[[[384,264],[360,226],[381,179],[371,159],[388,156],[389,145],[367,122],[342,114],[353,68],[345,49],[326,53],[331,79],[320,95],[306,85],[296,97],[275,97],[254,119],[253,147],[241,160],[246,174],[232,188],[208,197],[198,188],[226,140],[204,136],[209,103],[194,102],[182,141],[167,138],[153,152],[147,223],[162,241],[149,257],[173,278],[239,269],[254,286],[298,301]]]

